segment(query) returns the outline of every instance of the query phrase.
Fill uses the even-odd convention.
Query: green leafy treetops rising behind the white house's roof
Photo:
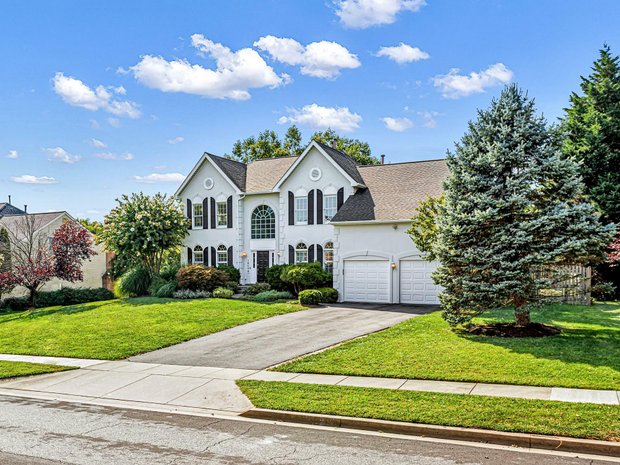
[[[315,132],[310,140],[316,140],[330,146],[334,145],[360,165],[376,165],[379,163],[379,160],[372,156],[370,145],[367,142],[339,136],[332,129]],[[295,125],[286,130],[282,139],[275,131],[266,129],[256,137],[250,136],[237,140],[233,145],[232,152],[226,157],[243,163],[250,163],[266,158],[299,156],[304,149],[302,141],[301,131]]]

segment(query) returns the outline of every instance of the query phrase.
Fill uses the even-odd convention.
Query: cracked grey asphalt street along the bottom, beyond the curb
[[[2,465],[603,465],[395,435],[0,397]]]

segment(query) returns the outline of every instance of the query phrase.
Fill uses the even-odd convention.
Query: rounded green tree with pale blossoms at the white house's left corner
[[[180,247],[187,220],[178,200],[163,194],[124,195],[105,217],[97,239],[121,260],[137,263],[155,276],[166,253]]]

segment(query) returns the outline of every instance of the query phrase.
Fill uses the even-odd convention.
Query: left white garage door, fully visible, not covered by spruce
[[[345,260],[344,300],[345,302],[389,302],[389,262],[387,260]]]

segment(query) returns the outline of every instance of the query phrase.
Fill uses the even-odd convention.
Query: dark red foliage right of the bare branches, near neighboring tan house
[[[86,228],[74,221],[65,221],[52,238],[56,277],[71,283],[82,281],[82,263],[97,255],[92,245]]]

